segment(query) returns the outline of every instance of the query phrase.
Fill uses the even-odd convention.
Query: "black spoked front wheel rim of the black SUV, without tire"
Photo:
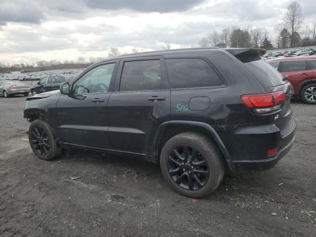
[[[41,156],[48,154],[50,145],[49,138],[45,130],[41,127],[34,127],[31,131],[31,143],[34,150]]]

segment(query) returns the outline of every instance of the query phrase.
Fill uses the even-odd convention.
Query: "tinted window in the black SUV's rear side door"
[[[160,60],[124,62],[119,91],[167,89],[167,81],[161,77]]]

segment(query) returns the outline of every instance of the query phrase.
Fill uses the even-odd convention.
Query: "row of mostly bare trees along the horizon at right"
[[[220,33],[213,31],[198,41],[200,47],[215,46],[225,43],[227,47],[255,47],[275,49],[294,48],[316,45],[316,20],[312,26],[303,25],[302,7],[297,1],[288,4],[282,22],[275,26],[276,40],[264,26],[249,25],[245,29],[230,27]]]

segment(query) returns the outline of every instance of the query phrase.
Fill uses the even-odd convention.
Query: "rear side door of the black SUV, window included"
[[[162,57],[122,59],[108,103],[115,150],[151,154],[158,126],[169,121],[170,89]]]

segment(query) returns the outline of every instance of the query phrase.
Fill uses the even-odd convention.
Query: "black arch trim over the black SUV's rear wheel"
[[[198,121],[173,120],[162,123],[155,134],[152,154],[159,160],[163,145],[173,136],[182,132],[197,132],[212,139],[220,149],[228,167],[235,171],[235,165],[215,129],[207,123]]]

